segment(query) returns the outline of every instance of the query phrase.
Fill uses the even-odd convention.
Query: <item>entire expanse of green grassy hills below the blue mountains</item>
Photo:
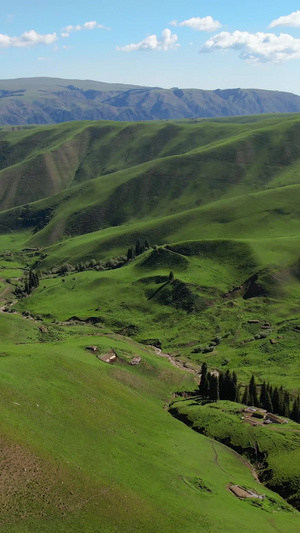
[[[216,432],[197,405],[207,438],[163,409],[204,361],[298,394],[299,132],[298,115],[1,129],[3,531],[299,530],[297,491],[211,440],[236,414]],[[257,437],[279,493],[297,427]]]

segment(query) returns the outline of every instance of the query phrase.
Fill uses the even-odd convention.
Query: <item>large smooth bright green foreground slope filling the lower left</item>
[[[180,531],[250,533],[253,520],[259,532],[298,530],[298,513],[267,489],[265,509],[235,498],[232,481],[262,492],[248,466],[163,409],[192,378],[129,340],[81,331],[36,343],[20,330],[22,344],[5,341],[3,532],[167,533],[176,523]],[[114,349],[118,362],[97,359],[86,350],[91,342],[100,355]],[[128,364],[133,355],[138,366]]]

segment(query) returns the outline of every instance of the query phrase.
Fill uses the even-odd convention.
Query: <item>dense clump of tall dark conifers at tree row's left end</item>
[[[239,401],[239,388],[237,385],[237,375],[235,372],[227,370],[225,373],[208,372],[207,364],[201,367],[201,380],[199,384],[199,394],[203,398],[212,401],[230,400]]]

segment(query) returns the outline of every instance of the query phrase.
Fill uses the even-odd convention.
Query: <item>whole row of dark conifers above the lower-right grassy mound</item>
[[[199,383],[199,394],[203,398],[213,402],[218,400],[230,400],[241,402],[244,405],[265,409],[268,413],[286,416],[300,423],[300,396],[292,399],[290,393],[281,387],[273,387],[265,381],[258,386],[254,375],[251,376],[249,384],[244,387],[238,383],[235,372],[209,372],[207,363],[201,367],[201,379]]]

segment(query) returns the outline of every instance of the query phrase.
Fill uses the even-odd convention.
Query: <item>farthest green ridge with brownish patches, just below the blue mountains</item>
[[[298,139],[295,115],[248,123],[75,122],[2,129],[0,208],[75,187],[70,201],[83,193],[93,198],[82,205],[85,219],[95,218],[96,208],[101,212],[94,229],[135,217],[137,207],[138,218],[152,216],[153,210],[174,213],[224,196],[298,183]],[[95,183],[86,183],[93,178]],[[59,203],[60,197],[56,208]],[[109,218],[112,208],[118,218]],[[83,230],[92,230],[88,220]]]

